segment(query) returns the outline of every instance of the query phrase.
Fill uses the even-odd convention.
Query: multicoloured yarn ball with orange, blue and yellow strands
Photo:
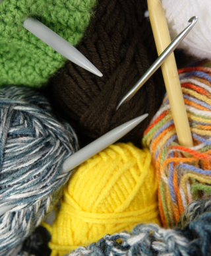
[[[165,227],[175,226],[191,201],[211,195],[211,62],[180,69],[179,78],[194,146],[179,146],[167,96],[142,139],[156,166]]]

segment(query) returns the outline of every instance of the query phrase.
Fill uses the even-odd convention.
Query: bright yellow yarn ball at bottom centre
[[[139,223],[160,224],[157,179],[147,148],[117,143],[76,168],[51,228],[51,255],[65,255]]]

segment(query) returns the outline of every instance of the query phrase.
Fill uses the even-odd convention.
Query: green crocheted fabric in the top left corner
[[[73,46],[80,42],[96,0],[3,0],[0,3],[2,84],[40,87],[67,59],[23,28],[34,17]]]

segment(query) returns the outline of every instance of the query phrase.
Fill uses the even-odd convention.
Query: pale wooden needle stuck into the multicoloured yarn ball
[[[147,2],[152,32],[154,34],[158,55],[160,55],[171,43],[166,15],[160,0],[148,0]],[[181,90],[173,53],[167,57],[161,68],[179,144],[181,146],[191,147],[193,146],[191,128],[187,118],[183,92]]]

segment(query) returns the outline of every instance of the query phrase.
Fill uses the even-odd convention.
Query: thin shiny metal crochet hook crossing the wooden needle
[[[185,36],[187,36],[187,34],[191,31],[191,29],[193,28],[193,26],[196,24],[196,21],[198,20],[197,16],[193,16],[192,18],[189,19],[189,22],[191,22],[191,24],[189,24],[189,26],[187,26],[187,28],[185,28],[172,42],[171,44],[169,44],[169,46],[167,46],[167,48],[162,52],[162,54],[158,57],[158,59],[156,59],[156,61],[154,61],[154,63],[151,65],[151,67],[144,73],[144,75],[142,75],[142,77],[136,82],[135,86],[133,86],[133,88],[131,88],[131,90],[129,90],[129,92],[127,92],[127,94],[122,98],[122,100],[119,102],[116,111],[119,109],[119,107],[122,104],[125,104],[126,102],[128,102],[129,100],[131,100],[131,98],[133,98],[133,96],[136,94],[136,92],[138,92],[138,90],[140,89],[140,87],[156,72],[156,70],[162,65],[162,63],[165,61],[165,59],[167,57],[169,57],[169,55],[172,53],[172,51],[175,50],[175,48],[177,48],[177,46],[183,41],[183,39],[185,38]]]

